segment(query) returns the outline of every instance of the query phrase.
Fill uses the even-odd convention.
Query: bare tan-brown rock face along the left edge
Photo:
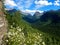
[[[0,45],[2,43],[2,38],[4,34],[7,32],[7,21],[5,19],[5,15],[3,13],[3,4],[2,1],[0,0]]]

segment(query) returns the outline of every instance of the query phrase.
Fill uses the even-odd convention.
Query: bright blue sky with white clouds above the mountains
[[[60,0],[5,0],[5,9],[17,9],[26,13],[40,13],[60,9]]]

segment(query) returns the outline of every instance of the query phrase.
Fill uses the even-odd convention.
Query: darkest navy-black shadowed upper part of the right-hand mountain
[[[41,21],[51,20],[52,23],[58,23],[60,22],[59,13],[60,13],[59,11],[48,11],[41,16],[40,20]]]

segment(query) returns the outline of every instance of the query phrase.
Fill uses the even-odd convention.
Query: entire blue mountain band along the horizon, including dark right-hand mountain
[[[17,11],[16,9],[7,10],[7,12],[9,12],[9,13],[16,12],[16,11]],[[60,20],[60,17],[59,17],[60,9],[56,10],[56,11],[50,10],[50,11],[43,12],[43,13],[35,12],[33,16],[29,13],[23,13],[23,12],[21,12],[21,13],[23,14],[22,18],[30,23],[36,22],[37,20],[45,21],[45,22],[48,20],[51,20],[52,22],[56,23]]]

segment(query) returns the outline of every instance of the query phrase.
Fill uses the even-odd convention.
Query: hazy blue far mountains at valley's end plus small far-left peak
[[[9,12],[9,13],[13,13],[16,11],[17,11],[16,9],[7,10],[7,12]],[[43,13],[40,13],[38,11],[35,12],[33,16],[30,13],[25,13],[25,12],[21,12],[21,11],[20,11],[20,13],[22,14],[23,19],[30,23],[35,22],[36,20],[38,20],[40,18],[41,15],[43,15]]]

